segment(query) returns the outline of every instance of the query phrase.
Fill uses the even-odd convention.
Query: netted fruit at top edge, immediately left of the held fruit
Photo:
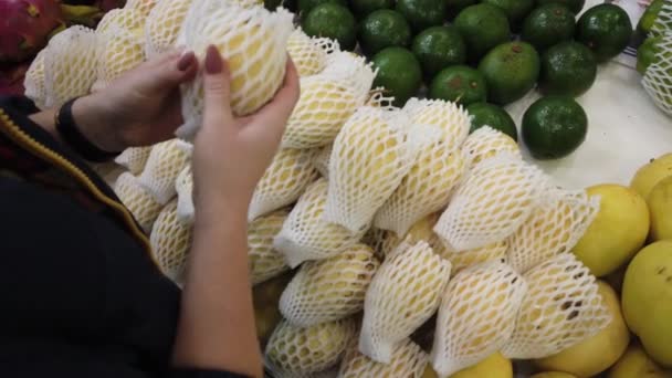
[[[145,23],[145,54],[148,59],[175,48],[177,36],[193,0],[159,1]]]

